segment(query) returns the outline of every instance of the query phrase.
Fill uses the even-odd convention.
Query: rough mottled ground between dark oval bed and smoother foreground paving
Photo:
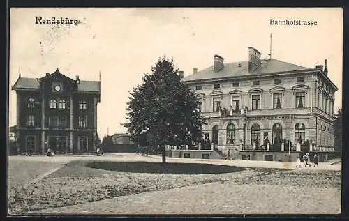
[[[242,170],[239,167],[231,170],[240,170],[239,172],[227,173],[225,171],[225,174],[150,174],[87,167],[87,165],[93,163],[86,160],[68,162],[56,172],[29,185],[25,190],[22,190],[21,195],[13,198],[15,200],[13,200],[12,208],[14,209],[12,212],[23,213],[43,208],[82,204],[140,192],[168,190],[218,181],[223,182],[232,178],[254,174],[253,170]],[[188,165],[185,166],[188,167]],[[151,168],[154,169],[154,167]],[[184,169],[181,166],[179,168]],[[217,169],[218,167],[209,167],[211,168],[210,170],[204,170],[202,169],[203,167],[198,168],[201,168],[201,172],[214,172],[212,168]],[[176,169],[174,172],[181,172],[182,170]],[[26,203],[25,206],[23,201]]]

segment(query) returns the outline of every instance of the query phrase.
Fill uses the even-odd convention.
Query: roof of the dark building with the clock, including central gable
[[[17,79],[17,82],[13,85],[12,89],[17,90],[17,89],[29,89],[29,90],[38,90],[40,89],[40,82],[45,81],[48,77],[52,77],[53,75],[62,75],[66,77],[66,75],[63,75],[59,73],[59,70],[57,70],[50,74],[46,75],[41,78],[30,78],[30,77],[19,77]],[[70,81],[75,82],[75,80],[71,79],[70,77],[66,77]],[[101,82],[96,82],[96,81],[82,81],[80,80],[80,83],[77,84],[77,91],[88,91],[88,92],[101,92]]]

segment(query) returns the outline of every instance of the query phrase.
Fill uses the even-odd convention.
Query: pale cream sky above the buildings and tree
[[[36,16],[68,17],[77,25],[35,24]],[[273,26],[270,19],[314,20],[316,26]],[[98,135],[126,132],[129,92],[159,57],[174,60],[184,77],[193,68],[248,60],[252,46],[272,57],[315,68],[327,59],[329,78],[342,105],[343,10],[341,8],[11,8],[9,83],[61,73],[99,80]],[[9,125],[16,123],[15,91],[9,87]]]

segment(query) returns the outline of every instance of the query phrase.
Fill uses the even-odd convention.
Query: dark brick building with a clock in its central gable
[[[57,70],[41,78],[19,75],[17,93],[17,152],[45,154],[96,153],[97,105],[100,80],[71,79]]]

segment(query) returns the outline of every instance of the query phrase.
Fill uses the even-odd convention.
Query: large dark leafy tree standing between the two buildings
[[[173,60],[158,59],[151,74],[130,93],[124,123],[132,140],[162,153],[165,145],[191,144],[202,137],[204,123],[194,93],[181,82]]]

